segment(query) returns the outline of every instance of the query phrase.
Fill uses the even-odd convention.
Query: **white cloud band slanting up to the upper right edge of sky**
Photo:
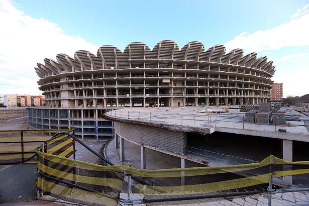
[[[309,5],[298,10],[288,23],[254,33],[242,32],[228,41],[227,50],[242,48],[246,52],[278,50],[288,46],[309,46]]]

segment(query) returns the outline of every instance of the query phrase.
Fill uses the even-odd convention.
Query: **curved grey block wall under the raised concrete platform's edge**
[[[185,154],[186,133],[149,126],[115,122],[115,131],[128,141],[176,154]]]

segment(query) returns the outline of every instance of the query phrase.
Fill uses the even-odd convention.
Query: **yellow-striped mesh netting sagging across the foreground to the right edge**
[[[70,138],[59,136],[47,142],[47,151],[38,154],[38,168],[45,176],[40,191],[82,204],[117,205],[124,177],[132,177],[135,192],[152,196],[196,195],[227,191],[264,190],[271,176],[309,174],[309,161],[289,162],[270,155],[259,163],[177,169],[136,169],[130,164],[101,166],[66,158]],[[57,181],[60,180],[60,181]]]

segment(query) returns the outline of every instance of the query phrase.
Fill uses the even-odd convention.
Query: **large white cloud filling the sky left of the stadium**
[[[58,53],[73,56],[76,50],[96,53],[98,46],[64,34],[46,19],[35,19],[11,1],[0,1],[0,93],[38,94],[36,63],[56,59]]]

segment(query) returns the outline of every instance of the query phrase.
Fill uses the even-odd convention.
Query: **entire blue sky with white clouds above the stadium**
[[[224,44],[273,60],[283,95],[309,93],[309,1],[34,1],[0,3],[0,93],[39,93],[33,67],[57,53],[122,51],[131,42]],[[6,46],[8,48],[6,48]],[[13,47],[13,48],[12,48]],[[16,54],[19,62],[15,61]],[[12,68],[12,75],[5,72]],[[18,75],[18,78],[15,76]],[[9,80],[8,80],[9,79]],[[27,81],[23,87],[18,82]]]

